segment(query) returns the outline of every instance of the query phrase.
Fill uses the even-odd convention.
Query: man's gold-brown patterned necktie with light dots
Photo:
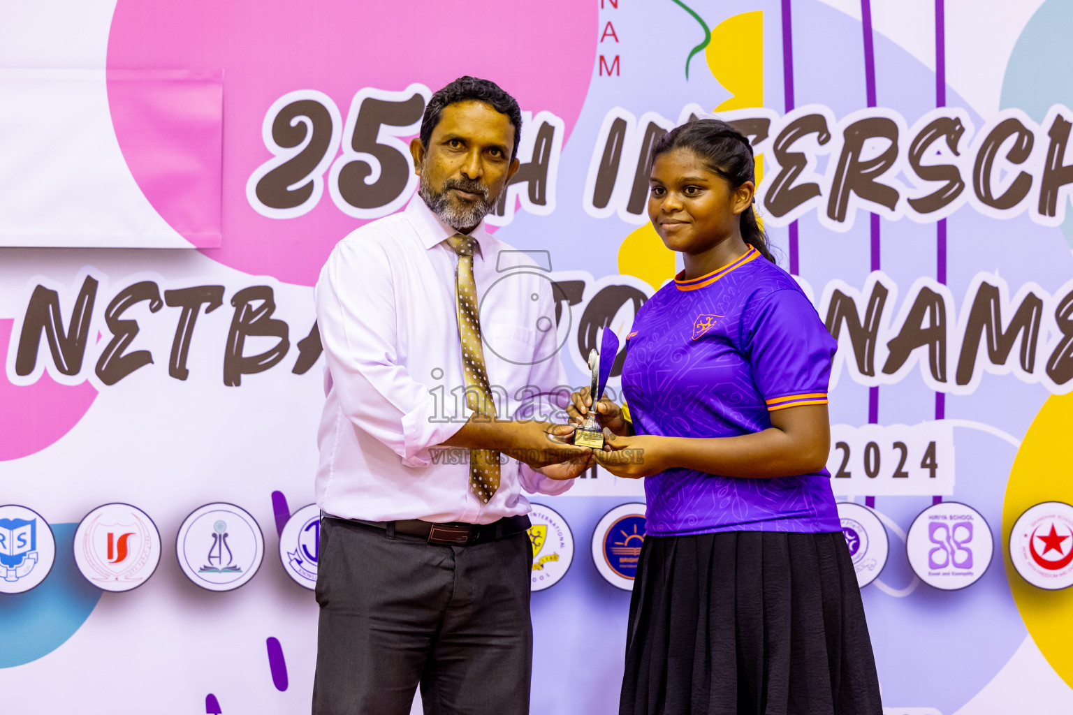
[[[476,239],[455,234],[447,239],[458,254],[455,269],[455,299],[458,306],[458,337],[462,345],[462,372],[466,375],[466,405],[475,413],[496,417],[496,403],[488,386],[477,321],[476,283],[473,281],[473,249]],[[487,504],[499,489],[499,452],[494,449],[470,449],[470,489]]]

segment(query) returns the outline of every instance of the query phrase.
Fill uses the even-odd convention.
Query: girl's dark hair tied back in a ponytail
[[[673,149],[690,149],[700,157],[707,169],[738,188],[746,181],[756,182],[752,145],[741,132],[721,119],[694,119],[664,134],[652,147],[652,161]],[[756,213],[749,208],[741,212],[741,238],[760,254],[778,263],[771,255],[767,234],[756,223]]]

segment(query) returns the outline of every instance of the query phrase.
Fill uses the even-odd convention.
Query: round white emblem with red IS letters
[[[99,506],[74,533],[74,563],[104,591],[130,591],[149,580],[160,563],[160,532],[130,504]]]

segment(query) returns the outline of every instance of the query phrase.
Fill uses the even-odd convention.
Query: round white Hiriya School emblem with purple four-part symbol
[[[972,585],[987,570],[995,549],[980,512],[957,502],[934,504],[909,527],[906,552],[921,581],[943,591]]]

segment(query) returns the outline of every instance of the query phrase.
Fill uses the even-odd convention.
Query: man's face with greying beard
[[[428,148],[410,143],[417,193],[441,221],[472,230],[499,200],[508,180],[518,170],[511,159],[514,124],[493,106],[468,100],[443,107]]]

